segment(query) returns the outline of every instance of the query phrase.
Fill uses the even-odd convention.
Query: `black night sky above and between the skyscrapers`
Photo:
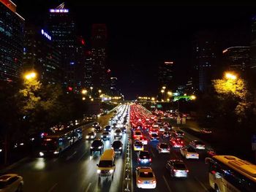
[[[27,23],[42,26],[48,9],[63,1],[13,0]],[[208,29],[217,31],[219,49],[249,45],[250,18],[256,6],[243,4],[110,4],[65,1],[75,12],[78,34],[89,41],[92,23],[108,27],[108,66],[118,77],[126,99],[157,93],[157,68],[173,60],[175,83],[184,83],[191,66],[192,35]]]

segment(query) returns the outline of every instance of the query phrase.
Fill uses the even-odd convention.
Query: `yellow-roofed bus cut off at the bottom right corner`
[[[231,155],[206,158],[208,179],[216,192],[255,192],[256,165]]]

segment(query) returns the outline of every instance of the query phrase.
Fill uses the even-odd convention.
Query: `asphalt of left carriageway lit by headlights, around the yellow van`
[[[108,125],[110,115],[112,113],[99,118],[102,128]],[[121,191],[124,153],[117,155],[113,182],[103,180],[98,183],[99,152],[90,156],[91,142],[85,139],[90,130],[91,128],[84,128],[83,139],[69,147],[61,157],[32,158],[8,173],[17,173],[23,177],[23,191]],[[125,148],[126,137],[121,140]],[[104,142],[105,150],[110,148],[112,141],[113,134],[110,141]]]

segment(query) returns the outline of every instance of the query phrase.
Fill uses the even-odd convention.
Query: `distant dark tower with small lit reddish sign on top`
[[[165,61],[159,66],[159,87],[167,86],[167,88],[174,88],[173,85],[173,61]]]

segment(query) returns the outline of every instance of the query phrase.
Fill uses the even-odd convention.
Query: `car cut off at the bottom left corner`
[[[0,176],[0,191],[20,192],[23,188],[23,177],[18,174],[4,174]]]

